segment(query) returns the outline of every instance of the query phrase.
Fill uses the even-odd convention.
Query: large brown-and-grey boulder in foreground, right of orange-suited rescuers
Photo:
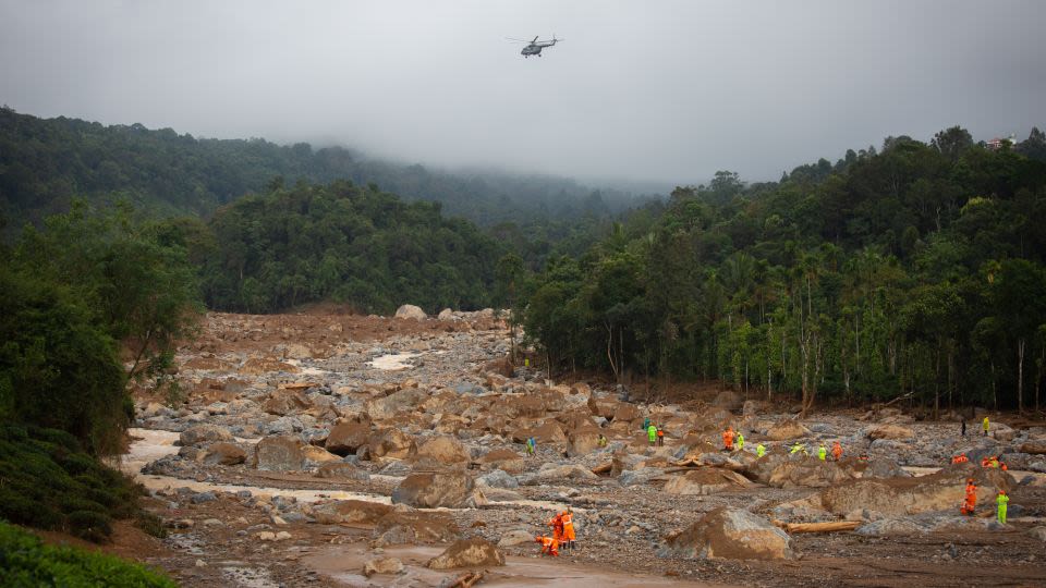
[[[747,511],[716,509],[685,530],[667,537],[660,556],[784,560],[794,556],[791,538]]]

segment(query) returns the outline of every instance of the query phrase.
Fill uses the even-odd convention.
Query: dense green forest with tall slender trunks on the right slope
[[[952,127],[649,206],[513,304],[554,369],[773,399],[1039,406],[1046,140]],[[525,283],[521,265],[511,281]]]

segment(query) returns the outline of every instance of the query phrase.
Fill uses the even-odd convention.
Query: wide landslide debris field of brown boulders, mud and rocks
[[[978,415],[962,439],[954,415],[897,407],[798,421],[732,392],[645,405],[512,370],[509,345],[489,313],[207,315],[180,351],[184,402],[136,392],[122,464],[170,535],[120,527],[113,549],[185,586],[451,586],[471,571],[477,586],[1046,584],[1043,424],[993,414],[982,437]],[[648,446],[647,417],[665,446]],[[722,451],[728,425],[744,451]],[[817,460],[837,439],[842,460]],[[786,455],[796,440],[808,457]],[[961,451],[973,463],[946,465]],[[980,466],[996,454],[1008,473]],[[974,517],[959,515],[968,477]],[[567,506],[576,551],[537,558]],[[780,528],[840,520],[855,529]]]

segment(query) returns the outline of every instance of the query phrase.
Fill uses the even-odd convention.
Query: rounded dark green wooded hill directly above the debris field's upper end
[[[373,184],[276,182],[218,209],[206,223],[175,219],[165,238],[199,271],[207,306],[273,313],[332,299],[362,313],[405,303],[428,313],[490,304],[503,246],[440,205],[404,203]]]

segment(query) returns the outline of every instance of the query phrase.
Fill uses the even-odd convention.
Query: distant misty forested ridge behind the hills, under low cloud
[[[481,225],[606,216],[632,205],[623,192],[571,180],[494,172],[455,175],[367,159],[340,147],[281,146],[260,138],[202,139],[141,124],[105,126],[0,108],[0,213],[11,225],[69,209],[73,197],[114,194],[160,213],[209,213],[282,176],[288,184],[352,180],[408,200],[442,204]]]

